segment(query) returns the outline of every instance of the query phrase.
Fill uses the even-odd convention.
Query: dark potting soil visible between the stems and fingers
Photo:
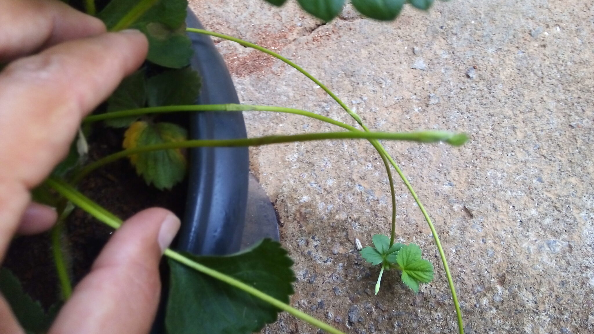
[[[89,159],[96,160],[121,150],[124,130],[98,127],[89,138]],[[187,184],[182,182],[172,190],[159,191],[138,177],[128,159],[114,162],[84,179],[78,190],[119,218],[125,219],[148,207],[166,207],[181,216],[184,212]],[[75,285],[88,272],[111,228],[75,209],[66,223],[71,263],[71,278]],[[24,289],[43,307],[59,299],[59,286],[52,259],[49,233],[17,237],[12,241],[4,266],[23,283]]]

